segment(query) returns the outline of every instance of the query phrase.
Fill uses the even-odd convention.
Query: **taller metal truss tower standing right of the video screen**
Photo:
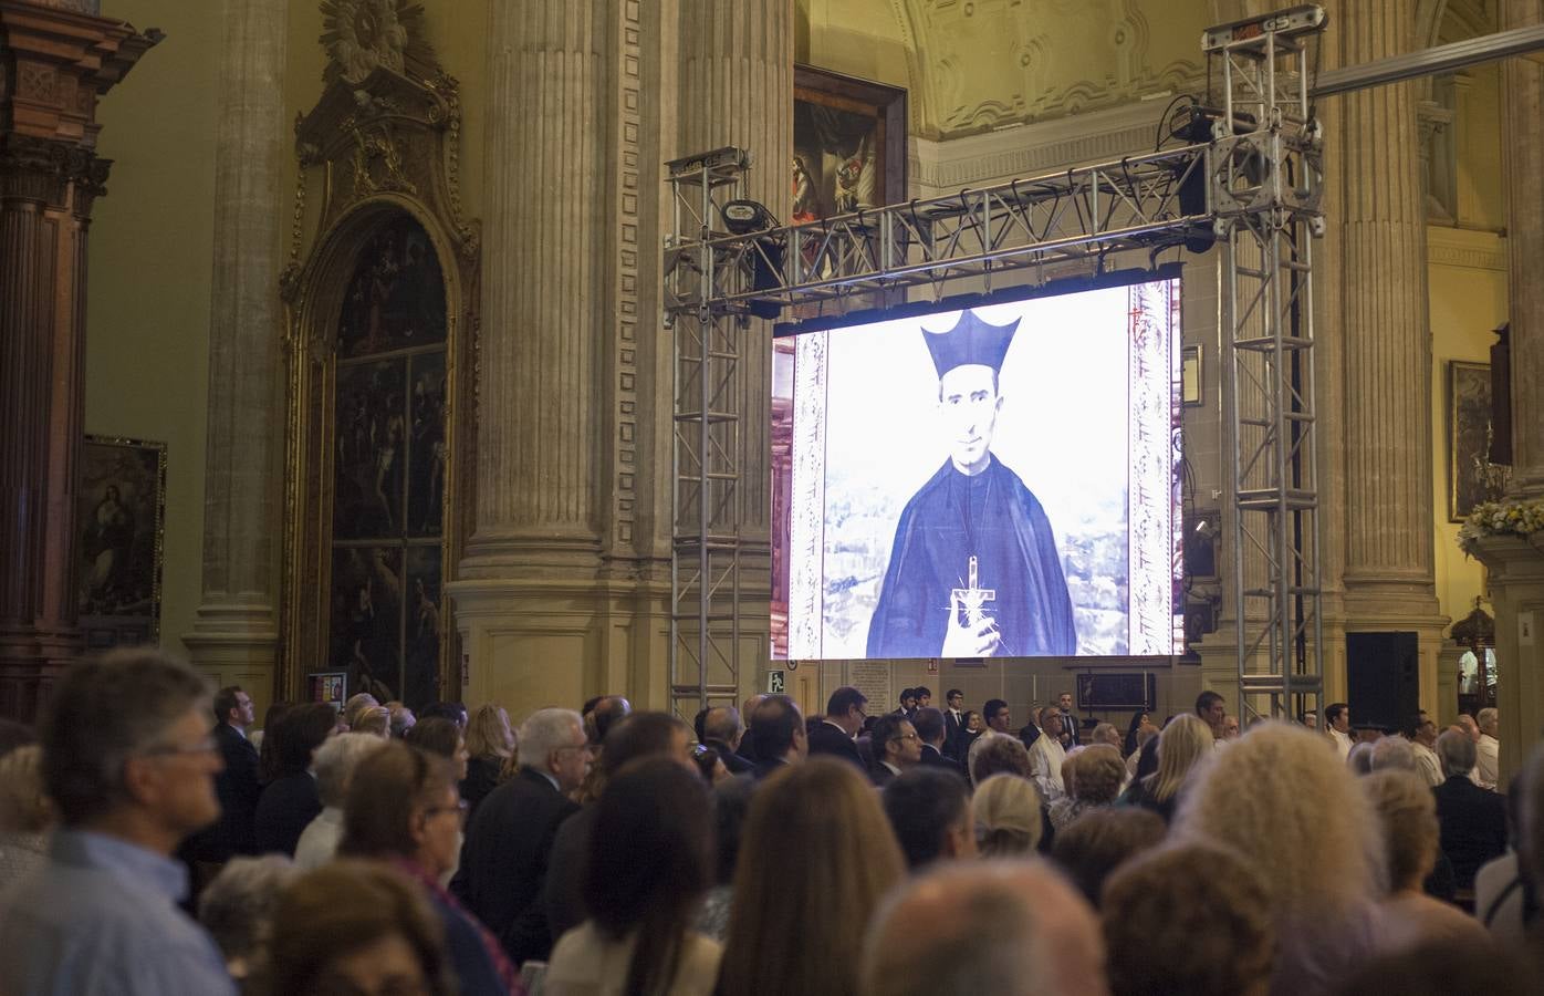
[[[1206,32],[1221,114],[1207,150],[1223,241],[1240,715],[1297,715],[1323,692],[1314,401],[1314,238],[1323,136],[1309,103],[1320,8]]]

